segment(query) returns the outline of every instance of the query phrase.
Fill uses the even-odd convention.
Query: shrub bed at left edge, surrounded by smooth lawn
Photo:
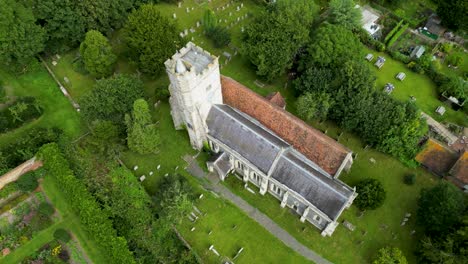
[[[34,97],[20,97],[12,105],[0,110],[0,133],[13,130],[40,117],[42,108]]]

